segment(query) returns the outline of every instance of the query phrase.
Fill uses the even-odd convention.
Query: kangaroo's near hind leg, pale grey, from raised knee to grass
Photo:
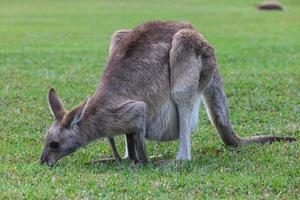
[[[177,32],[170,50],[171,97],[179,115],[179,150],[176,159],[191,159],[191,131],[198,121],[199,95],[211,79],[214,66],[202,63],[211,51],[205,38],[195,30]],[[194,111],[193,111],[194,110]],[[193,120],[192,120],[193,119]],[[197,123],[196,123],[197,124]]]

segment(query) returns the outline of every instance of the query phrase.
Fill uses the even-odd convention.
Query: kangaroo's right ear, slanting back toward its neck
[[[62,120],[62,125],[66,128],[70,128],[78,124],[84,117],[89,100],[90,99],[87,98],[82,104],[68,112]]]

